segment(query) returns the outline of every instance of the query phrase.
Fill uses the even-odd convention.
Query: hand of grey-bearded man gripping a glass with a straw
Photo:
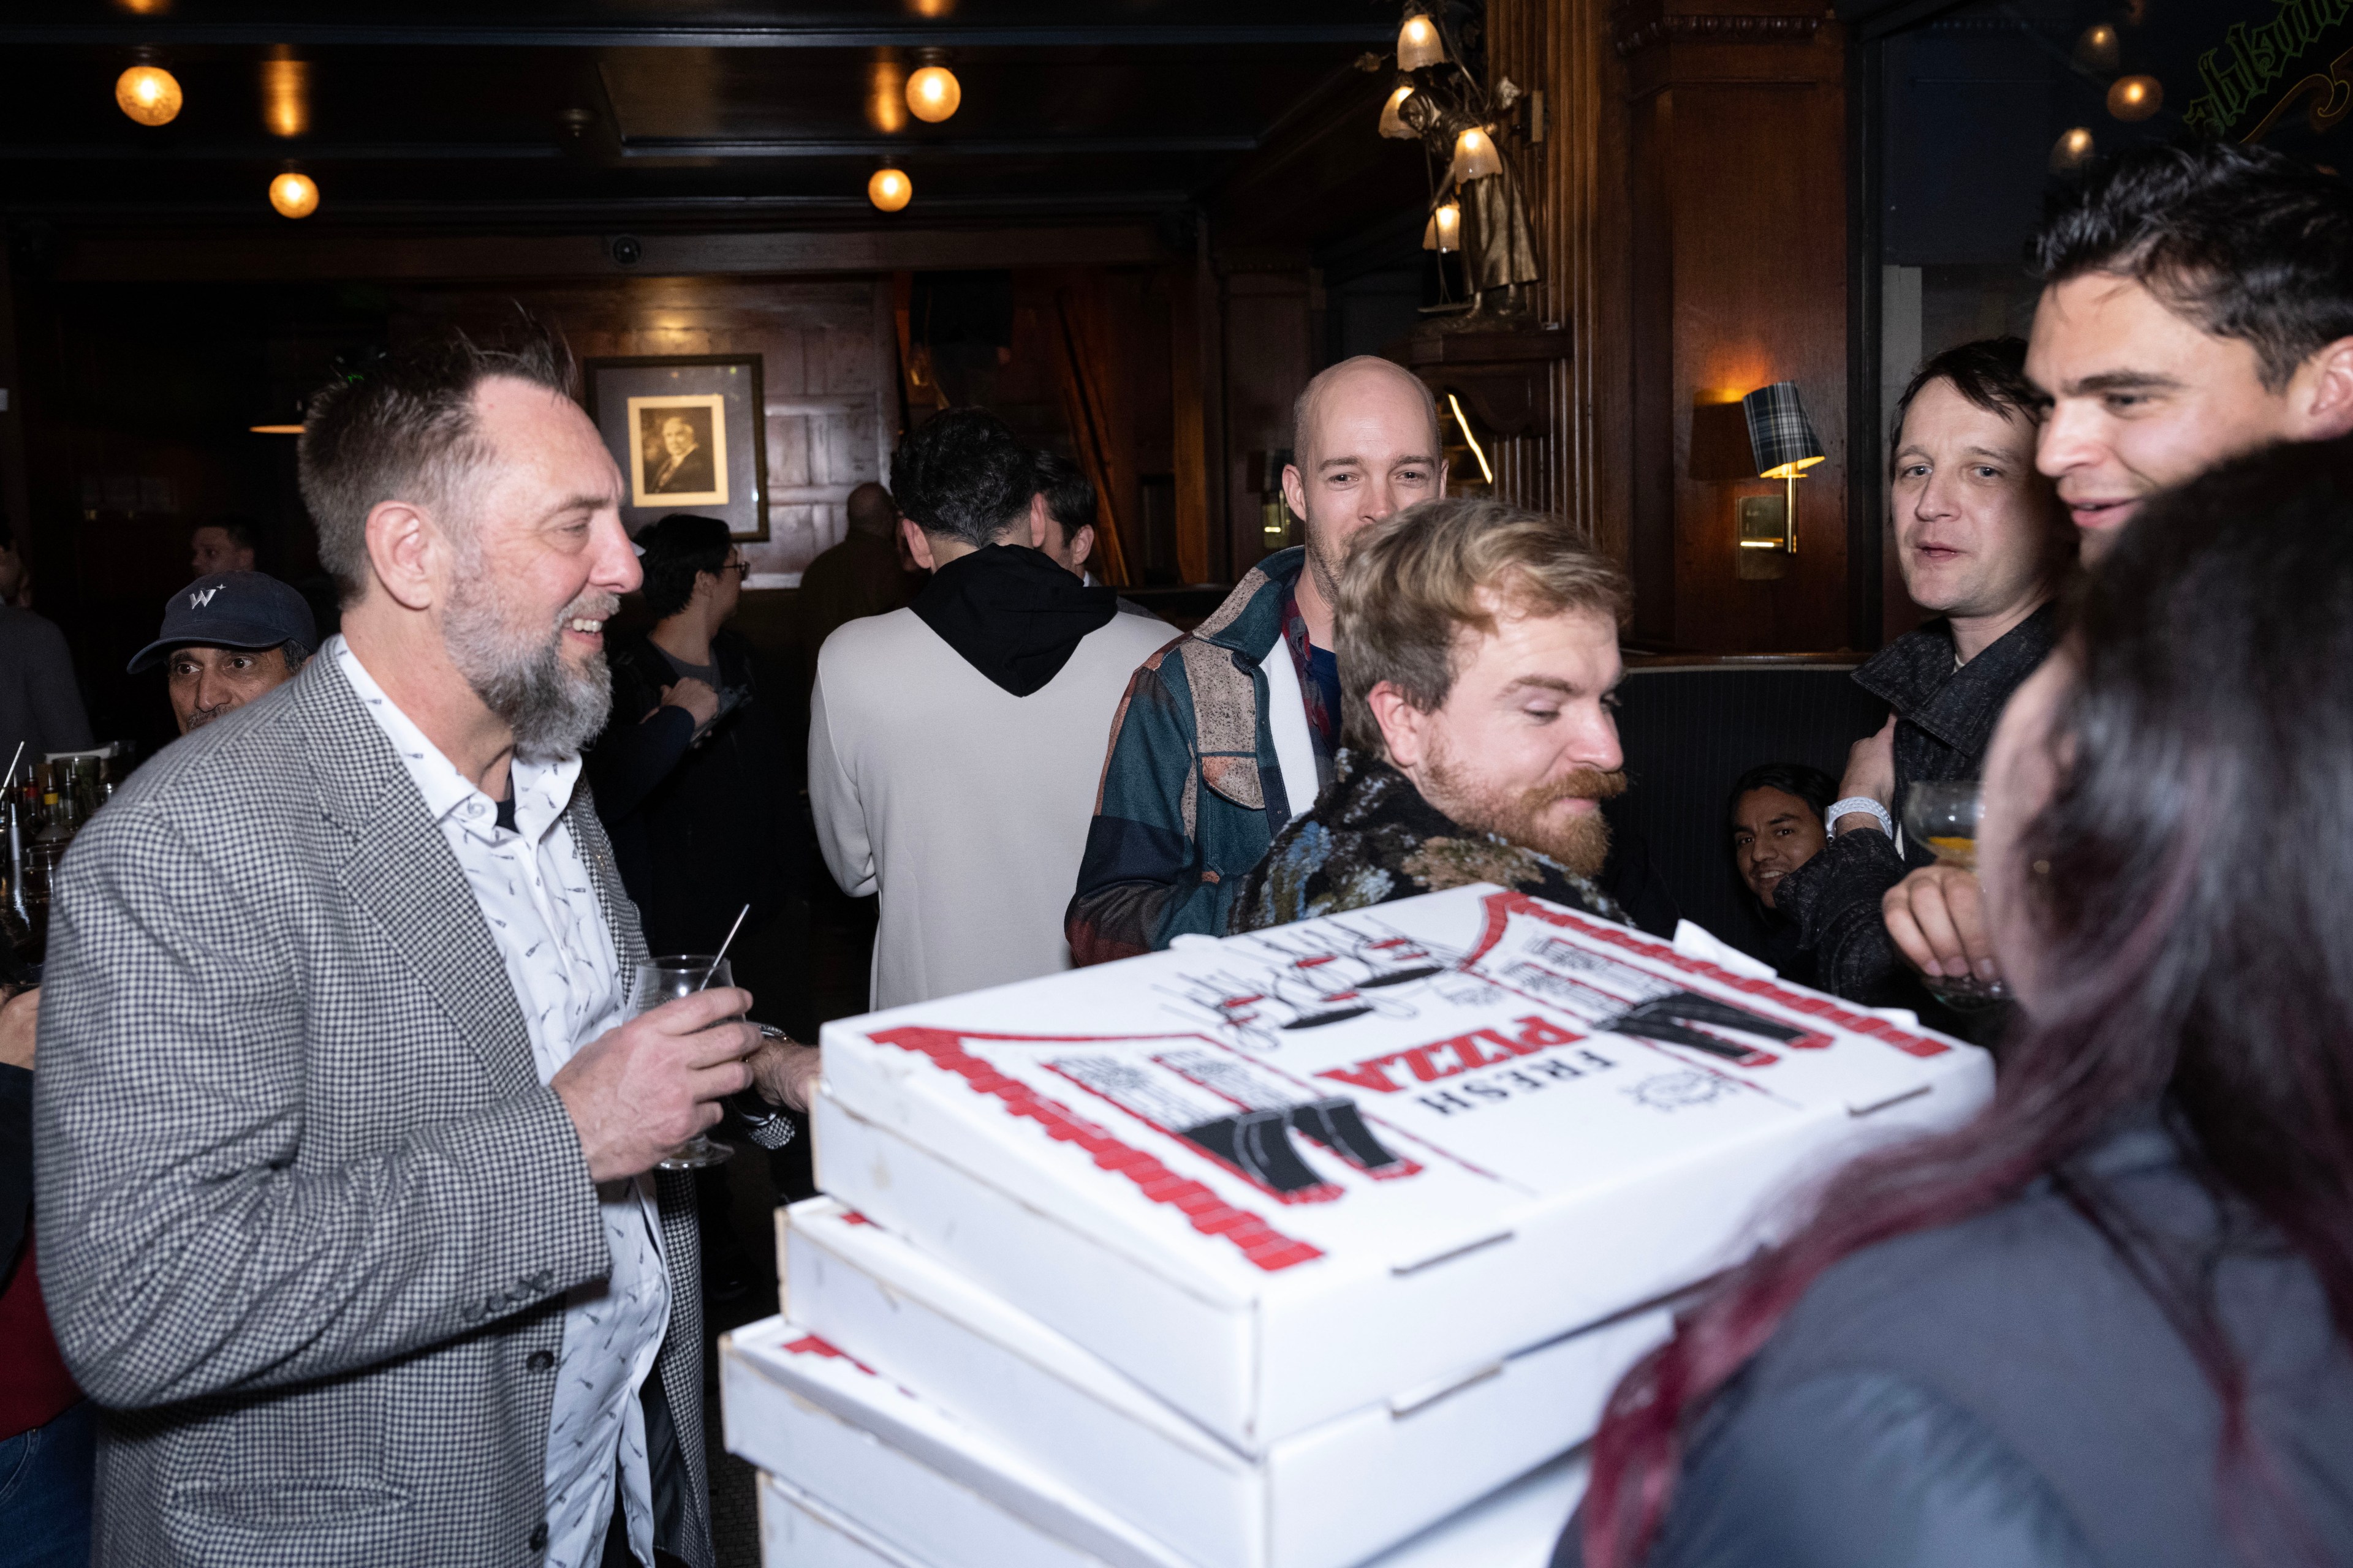
[[[751,992],[734,987],[664,1001],[562,1065],[548,1086],[572,1112],[593,1180],[652,1171],[720,1119],[722,1095],[751,1086],[744,1058],[760,1032],[741,1018],[748,1006]]]

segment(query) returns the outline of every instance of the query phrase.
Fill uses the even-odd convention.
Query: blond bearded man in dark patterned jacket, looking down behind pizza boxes
[[[1612,717],[1624,574],[1558,517],[1428,501],[1362,534],[1339,583],[1344,750],[1275,835],[1233,931],[1468,882],[1624,919],[1595,882],[1624,792]]]

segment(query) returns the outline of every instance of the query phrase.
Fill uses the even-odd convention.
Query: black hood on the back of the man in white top
[[[1113,588],[1087,588],[1028,545],[981,545],[932,574],[915,614],[965,663],[1014,696],[1038,691],[1071,651],[1120,614]]]

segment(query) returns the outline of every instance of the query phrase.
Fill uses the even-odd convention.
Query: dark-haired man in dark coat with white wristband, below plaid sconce
[[[1880,900],[1922,844],[1897,846],[1904,790],[1977,778],[1993,722],[2052,649],[2052,592],[2073,538],[2035,473],[2035,390],[2026,343],[1986,339],[1932,357],[1897,402],[1887,512],[1913,604],[1939,616],[1854,672],[1889,708],[1857,743],[1828,811],[1831,842],[1774,884],[1774,910],[1840,997],[1918,1006]]]

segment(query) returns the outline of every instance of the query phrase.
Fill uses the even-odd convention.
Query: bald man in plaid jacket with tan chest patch
[[[1332,602],[1367,524],[1447,489],[1438,402],[1421,378],[1360,357],[1292,409],[1282,498],[1306,543],[1268,555],[1191,635],[1127,684],[1064,917],[1071,957],[1104,964],[1226,933],[1242,872],[1315,804],[1339,750]]]

